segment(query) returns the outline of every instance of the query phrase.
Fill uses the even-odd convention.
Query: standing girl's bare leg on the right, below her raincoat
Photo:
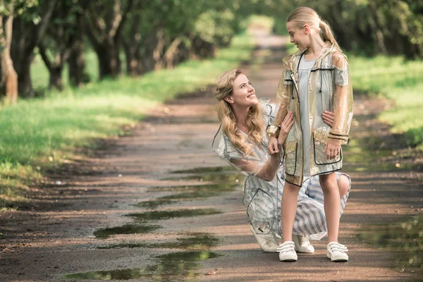
[[[328,241],[338,242],[339,214],[341,212],[341,197],[339,195],[336,174],[329,173],[319,176],[324,194],[324,213],[328,224]]]

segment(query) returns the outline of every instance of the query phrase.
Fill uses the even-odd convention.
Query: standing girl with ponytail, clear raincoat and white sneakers
[[[348,60],[333,37],[331,27],[307,7],[290,14],[286,27],[290,42],[299,51],[283,59],[283,73],[278,86],[281,104],[274,126],[268,129],[269,152],[279,151],[276,125],[294,114],[294,125],[283,146],[286,185],[282,196],[283,245],[279,259],[297,259],[294,250],[293,223],[298,191],[310,176],[319,176],[324,192],[328,245],[331,261],[348,261],[344,245],[338,243],[340,195],[335,171],[342,168],[341,145],[348,142],[353,119],[353,89],[348,73]],[[325,111],[333,111],[333,127],[324,123]]]

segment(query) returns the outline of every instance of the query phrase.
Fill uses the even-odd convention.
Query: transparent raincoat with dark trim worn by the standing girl
[[[309,123],[300,122],[298,66],[305,51],[298,51],[283,59],[283,73],[278,85],[277,99],[281,108],[274,125],[280,125],[288,111],[293,111],[294,125],[288,134],[286,180],[300,186],[303,180],[303,154],[309,154],[312,176],[338,171],[342,168],[342,149],[335,159],[326,159],[323,152],[328,139],[345,145],[353,121],[353,87],[348,71],[348,59],[338,47],[326,42],[316,59],[308,80]],[[335,113],[333,127],[324,123],[324,111]],[[302,128],[309,126],[309,148],[303,152]]]

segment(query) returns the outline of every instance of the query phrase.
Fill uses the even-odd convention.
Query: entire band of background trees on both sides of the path
[[[30,66],[39,52],[50,87],[81,85],[85,54],[93,49],[99,79],[116,78],[125,54],[126,74],[172,68],[213,56],[252,14],[285,26],[298,6],[328,21],[343,49],[365,55],[423,57],[423,0],[0,0],[0,94],[33,97]],[[280,30],[280,29],[279,29]]]

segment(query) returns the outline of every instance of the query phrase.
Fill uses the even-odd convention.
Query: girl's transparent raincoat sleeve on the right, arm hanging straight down
[[[345,145],[348,142],[351,122],[353,121],[353,87],[348,70],[348,59],[341,51],[332,56],[333,63],[333,112],[335,118],[328,138]]]

